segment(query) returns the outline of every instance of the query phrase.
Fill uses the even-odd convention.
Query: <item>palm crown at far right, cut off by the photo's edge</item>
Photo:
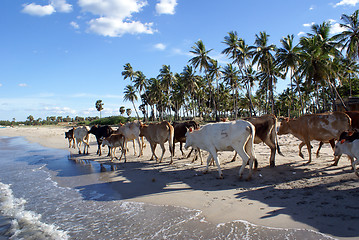
[[[334,39],[339,40],[342,44],[342,50],[346,49],[348,58],[359,58],[359,10],[356,10],[352,15],[343,14],[341,19],[343,24],[340,27],[345,30],[334,36]]]

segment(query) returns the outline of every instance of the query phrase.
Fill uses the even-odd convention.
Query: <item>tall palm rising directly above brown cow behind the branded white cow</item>
[[[272,114],[274,114],[274,56],[272,52],[276,50],[274,44],[268,44],[269,35],[266,32],[260,32],[256,34],[256,40],[254,41],[253,47],[253,64],[258,63],[258,67],[261,72],[267,75],[267,90],[269,92],[269,100],[272,106]],[[267,96],[267,94],[266,94]]]

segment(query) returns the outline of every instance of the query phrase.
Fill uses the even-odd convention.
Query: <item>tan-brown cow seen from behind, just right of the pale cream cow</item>
[[[150,123],[148,125],[142,124],[141,125],[141,132],[140,136],[144,136],[147,141],[150,143],[152,156],[150,160],[153,160],[153,157],[158,160],[156,156],[155,150],[157,144],[160,144],[162,148],[162,155],[159,162],[162,162],[163,155],[165,154],[165,142],[169,142],[170,152],[171,152],[171,163],[173,163],[173,137],[174,137],[174,129],[173,126],[167,122],[163,121],[160,123]]]

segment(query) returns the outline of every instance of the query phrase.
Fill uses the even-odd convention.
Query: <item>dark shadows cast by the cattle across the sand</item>
[[[75,156],[69,160],[79,158]],[[106,157],[100,161],[93,161],[91,157],[87,160],[87,163],[74,162],[80,168],[92,165],[92,172],[98,173],[98,181],[76,187],[84,199],[132,200],[188,190],[235,190],[238,200],[258,201],[268,206],[268,210],[261,210],[262,219],[286,214],[324,234],[359,236],[356,227],[359,223],[359,181],[345,164],[331,166],[331,161],[318,164],[321,160],[316,160],[305,166],[305,161],[298,159],[270,168],[268,163],[260,162],[253,179],[245,181],[238,178],[241,164],[238,160],[237,163],[222,162],[223,180],[216,178],[216,167],[204,174],[205,165],[192,164],[188,159],[175,158],[172,165],[168,164],[168,158],[162,163],[137,157],[128,157],[126,163],[111,163]],[[247,174],[248,166],[244,177]],[[65,175],[68,174],[61,171],[58,174],[59,177]],[[90,194],[93,191],[102,193],[103,197],[93,199]]]

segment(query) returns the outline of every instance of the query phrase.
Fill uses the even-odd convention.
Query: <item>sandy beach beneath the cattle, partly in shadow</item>
[[[74,160],[103,163],[104,168],[111,171],[107,149],[103,148],[103,156],[97,156],[93,135],[89,155],[79,155],[77,149],[68,148],[64,138],[68,129],[57,126],[1,128],[0,136],[24,136],[45,147],[68,150]],[[331,166],[333,151],[325,144],[320,157],[312,154],[312,163],[305,165],[307,149],[303,148],[305,159],[300,158],[299,143],[292,135],[279,136],[284,156],[276,155],[275,168],[269,167],[270,149],[256,144],[259,168],[251,181],[238,178],[241,160],[237,157],[235,162],[230,162],[232,152],[219,153],[224,179],[217,179],[217,167],[210,166],[210,171],[203,174],[205,165],[182,157],[178,143],[172,165],[169,165],[168,144],[163,162],[155,163],[149,161],[148,143],[140,158],[134,156],[129,143],[127,163],[115,160],[112,177],[99,181],[111,182],[126,201],[199,209],[207,221],[218,224],[245,220],[275,228],[311,229],[339,239],[359,237],[359,178],[353,173],[350,161],[343,156],[338,166]],[[312,145],[315,152],[318,142],[313,141]],[[160,147],[156,153],[160,155]],[[203,160],[206,157],[203,153]],[[248,167],[244,177],[247,174]]]

